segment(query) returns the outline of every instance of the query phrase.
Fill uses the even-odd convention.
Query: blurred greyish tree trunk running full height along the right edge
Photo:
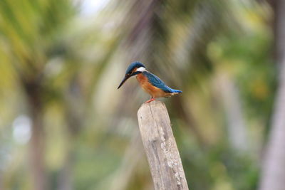
[[[274,105],[271,133],[264,157],[260,190],[283,190],[285,186],[285,1],[274,1],[275,46],[279,88]]]

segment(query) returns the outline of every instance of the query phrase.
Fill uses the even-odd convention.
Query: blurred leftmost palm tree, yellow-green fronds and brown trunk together
[[[30,165],[33,189],[48,189],[44,163],[45,132],[43,112],[48,95],[45,66],[54,56],[57,46],[73,12],[70,1],[1,1],[1,41],[18,75],[18,83],[26,95],[31,117]]]

